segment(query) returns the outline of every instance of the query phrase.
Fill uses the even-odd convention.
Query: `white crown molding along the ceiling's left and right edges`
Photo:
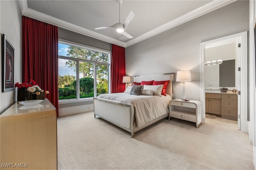
[[[122,42],[119,40],[116,40],[114,38],[110,38],[108,36],[104,36],[102,34],[93,32],[91,30],[87,30],[85,28],[82,28],[80,26],[76,26],[74,24],[70,24],[68,22],[65,22],[63,20],[54,18],[52,16],[43,14],[41,12],[32,10],[30,8],[28,8],[28,4],[27,4],[27,0],[19,0],[20,2],[20,9],[22,11],[22,15],[23,16],[27,16],[42,22],[46,22],[48,24],[52,24],[55,26],[58,26],[60,28],[64,28],[73,32],[77,32],[79,34],[83,34],[85,36],[89,36],[92,38],[96,38],[98,40],[102,40],[108,43],[113,43],[115,45],[119,45],[122,47],[129,47],[130,45],[134,45],[135,43],[141,42],[143,40],[146,40],[152,36],[155,36],[157,34],[160,34],[166,30],[169,30],[171,28],[174,28],[180,24],[183,24],[185,22],[188,22],[190,20],[193,20],[194,18],[197,18],[199,16],[202,16],[204,14],[207,14],[208,12],[211,12],[213,10],[216,10],[218,8],[221,8],[222,6],[228,5],[232,2],[235,2],[236,0],[224,0],[224,1],[220,1],[220,0],[213,0],[212,2],[209,2],[208,4],[205,4],[204,6],[201,6],[200,8],[197,8],[196,10],[193,10],[191,12],[188,12],[187,14],[184,14],[183,16],[180,16],[154,30],[151,30],[150,32],[147,32],[137,38],[134,38],[128,42]]]

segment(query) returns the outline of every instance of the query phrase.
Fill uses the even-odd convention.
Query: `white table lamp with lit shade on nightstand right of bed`
[[[185,81],[191,81],[190,71],[188,71],[188,70],[177,71],[176,81],[182,81],[182,83],[181,83],[181,85],[182,85],[181,86],[181,88],[182,88],[181,99],[185,100],[186,99]]]

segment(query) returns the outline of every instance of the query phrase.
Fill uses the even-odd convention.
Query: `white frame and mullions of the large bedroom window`
[[[84,45],[81,43],[76,43],[76,42],[71,42],[68,40],[63,40],[63,39],[59,39],[58,43],[62,43],[65,45],[71,45],[74,47],[80,47],[80,48],[84,48],[84,49],[88,49],[88,50],[92,50],[92,51],[98,51],[100,53],[106,53],[108,54],[108,62],[104,63],[101,61],[93,61],[93,60],[88,60],[88,59],[78,59],[78,58],[74,58],[74,57],[67,57],[67,56],[63,56],[63,55],[58,55],[58,59],[68,59],[68,60],[73,60],[76,61],[76,82],[79,82],[79,61],[82,62],[88,62],[88,63],[93,63],[93,67],[94,67],[94,97],[97,96],[97,72],[96,72],[96,64],[102,64],[102,65],[107,65],[108,66],[108,93],[110,93],[110,85],[111,85],[111,51],[108,50],[104,50],[104,49],[100,49],[100,48],[96,48],[96,47],[91,47],[88,45]],[[80,99],[80,83],[76,83],[76,99],[59,99],[59,103],[73,103],[73,102],[77,102],[77,101],[88,101],[88,100],[93,100],[93,97],[86,97],[86,98],[81,98]]]

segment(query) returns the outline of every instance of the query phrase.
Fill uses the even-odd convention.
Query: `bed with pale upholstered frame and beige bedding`
[[[112,93],[104,94],[98,97],[94,97],[94,117],[100,117],[128,132],[131,132],[132,138],[134,137],[134,132],[141,130],[145,127],[148,127],[162,119],[168,117],[168,104],[171,99],[173,99],[173,79],[174,73],[158,73],[158,74],[148,74],[140,75],[134,77],[134,82],[142,81],[166,81],[169,80],[169,83],[166,87],[166,96],[151,96],[153,100],[156,98],[162,100],[162,103],[166,103],[164,107],[166,109],[159,109],[158,113],[153,117],[148,117],[148,111],[140,109],[135,103],[132,103],[132,100],[139,100],[142,96],[130,95],[127,93]],[[149,86],[148,86],[149,87]],[[110,95],[110,96],[109,96]],[[126,98],[130,96],[130,98]],[[116,100],[121,98],[121,100]],[[149,98],[148,96],[142,97]],[[130,102],[129,102],[130,101]],[[148,106],[148,105],[147,105]],[[152,106],[150,104],[150,106]],[[157,105],[158,107],[160,104]],[[137,107],[137,108],[136,108]],[[160,107],[159,107],[160,108]],[[159,113],[160,112],[160,113]],[[142,113],[142,114],[139,114]],[[146,119],[146,121],[141,121],[139,118]]]

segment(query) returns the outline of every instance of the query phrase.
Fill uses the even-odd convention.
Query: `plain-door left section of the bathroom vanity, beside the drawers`
[[[205,112],[221,115],[221,94],[205,93]]]

